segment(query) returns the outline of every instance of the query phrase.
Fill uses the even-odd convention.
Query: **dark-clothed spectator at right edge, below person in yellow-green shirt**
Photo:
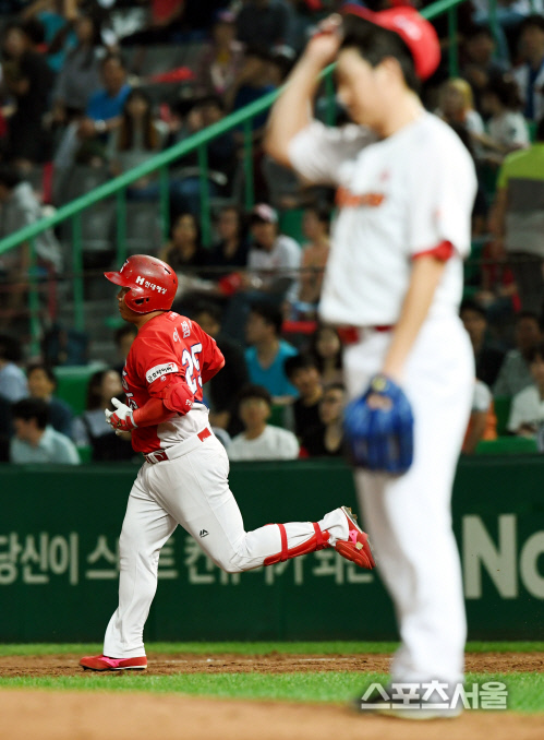
[[[520,311],[516,315],[513,341],[516,348],[506,354],[493,386],[495,396],[515,396],[533,382],[529,357],[534,347],[542,342],[542,331],[535,313]]]

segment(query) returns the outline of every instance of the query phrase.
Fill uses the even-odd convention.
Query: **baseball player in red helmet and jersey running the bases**
[[[104,654],[82,658],[92,670],[147,666],[143,631],[157,588],[159,553],[178,524],[229,573],[273,565],[334,547],[361,568],[374,568],[366,535],[344,506],[319,522],[275,524],[245,532],[229,484],[229,461],[208,426],[202,387],[225,365],[215,341],[194,321],[170,311],[173,270],[136,254],[106,277],[120,286],[119,311],[137,327],[123,370],[126,404],[106,411],[116,431],[130,431],[145,463],[134,481],[119,542],[119,607]]]

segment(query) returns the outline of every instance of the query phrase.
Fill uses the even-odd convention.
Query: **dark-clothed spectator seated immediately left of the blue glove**
[[[346,389],[341,383],[328,385],[319,402],[319,425],[302,438],[302,452],[310,457],[340,457],[343,454],[343,407]]]

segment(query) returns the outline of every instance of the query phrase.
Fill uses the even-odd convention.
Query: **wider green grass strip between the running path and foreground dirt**
[[[344,703],[374,681],[386,683],[384,673],[349,671],[312,673],[77,673],[59,678],[0,679],[0,689],[53,689],[84,691],[144,691],[226,699],[281,700]],[[469,673],[467,683],[501,681],[508,688],[508,708],[515,712],[544,712],[544,675]]]

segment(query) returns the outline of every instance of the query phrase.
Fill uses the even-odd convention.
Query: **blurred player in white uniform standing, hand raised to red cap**
[[[346,431],[401,635],[392,702],[360,707],[418,719],[459,713],[466,617],[450,497],[474,378],[458,319],[474,167],[418,96],[439,57],[433,27],[413,9],[348,5],[310,40],[265,143],[305,181],[338,188],[321,317],[350,327]],[[342,128],[311,118],[318,73],[335,60],[353,121]],[[431,681],[440,688],[428,691]],[[406,682],[420,687],[418,712],[407,713],[395,689]]]

